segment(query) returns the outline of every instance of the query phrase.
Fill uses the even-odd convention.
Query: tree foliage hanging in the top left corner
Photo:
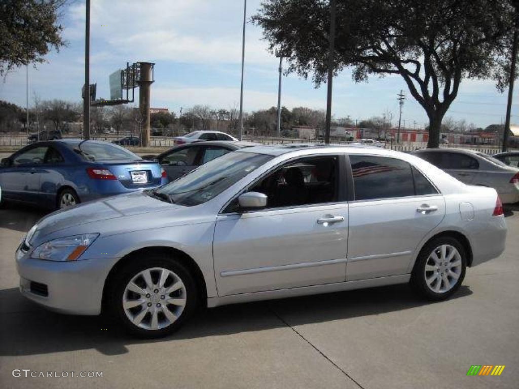
[[[44,62],[65,45],[59,9],[66,0],[0,1],[0,76],[21,65]]]

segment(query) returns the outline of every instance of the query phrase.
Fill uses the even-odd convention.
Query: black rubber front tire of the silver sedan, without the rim
[[[133,257],[129,259],[128,263],[124,267],[119,269],[119,271],[115,274],[114,278],[111,280],[110,285],[108,286],[108,294],[106,295],[107,313],[114,319],[116,319],[116,322],[118,322],[131,335],[151,339],[160,338],[172,334],[173,332],[178,330],[182,326],[182,324],[196,310],[198,304],[198,290],[193,276],[190,274],[187,268],[181,263],[181,261],[176,260],[174,258],[167,258],[165,257],[165,255],[166,254],[150,253],[143,254],[143,256],[140,257]],[[177,316],[176,320],[173,321],[171,324],[167,324],[167,318],[163,314],[164,310],[168,309],[168,307],[171,307],[171,305],[164,304],[164,306],[160,309],[156,309],[154,306],[157,305],[155,303],[159,302],[160,305],[160,302],[163,302],[165,300],[157,300],[154,301],[154,303],[146,302],[142,307],[135,307],[137,311],[135,312],[135,314],[133,314],[134,317],[138,316],[141,313],[141,311],[144,311],[146,309],[147,304],[153,304],[149,306],[148,309],[152,311],[156,309],[157,312],[161,311],[161,313],[158,313],[159,322],[160,320],[162,320],[163,325],[167,325],[166,327],[159,329],[141,328],[135,325],[128,317],[125,308],[123,307],[123,298],[127,297],[127,294],[129,293],[126,289],[127,285],[131,280],[135,281],[136,275],[138,275],[142,271],[145,271],[146,269],[157,268],[168,269],[172,271],[174,273],[174,276],[178,277],[182,281],[184,289],[182,291],[175,291],[171,294],[168,294],[167,298],[175,298],[175,296],[182,297],[183,299],[185,299],[185,305],[179,316]],[[154,274],[155,272],[159,273],[158,277],[160,277],[160,272],[158,270],[152,270],[152,280],[154,283],[156,281],[158,283],[158,277],[156,274]],[[171,277],[171,279],[168,278],[168,282],[170,282],[171,284],[177,281],[178,280],[173,279],[173,277]],[[165,285],[168,286],[171,286],[171,284],[165,283]],[[149,296],[149,294],[146,296]],[[140,296],[139,298],[144,299],[146,298],[146,296]],[[151,296],[151,299],[153,299],[153,297],[154,296]],[[155,297],[159,298],[158,294],[155,295]],[[163,297],[160,296],[160,298]],[[146,301],[150,301],[150,299],[146,298]],[[152,311],[150,311],[149,313],[145,313],[141,325],[151,326]],[[132,314],[132,312],[130,312],[129,314]]]

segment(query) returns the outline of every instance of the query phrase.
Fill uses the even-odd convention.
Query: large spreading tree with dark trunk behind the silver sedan
[[[319,85],[329,58],[328,0],[266,0],[253,21],[270,49],[287,53],[289,72]],[[463,78],[491,78],[510,41],[510,0],[337,0],[335,73],[353,79],[400,75],[429,117],[428,147]]]

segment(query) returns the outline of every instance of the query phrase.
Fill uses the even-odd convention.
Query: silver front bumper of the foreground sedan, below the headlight
[[[29,253],[20,248],[16,252],[22,295],[56,312],[101,313],[104,283],[116,259],[53,262],[29,258]],[[31,287],[31,282],[38,287]],[[47,296],[42,293],[43,286],[46,286]]]

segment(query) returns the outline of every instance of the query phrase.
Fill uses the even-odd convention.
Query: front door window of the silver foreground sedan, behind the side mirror
[[[338,199],[336,156],[302,158],[283,165],[249,191],[267,195],[267,207],[310,205]]]

